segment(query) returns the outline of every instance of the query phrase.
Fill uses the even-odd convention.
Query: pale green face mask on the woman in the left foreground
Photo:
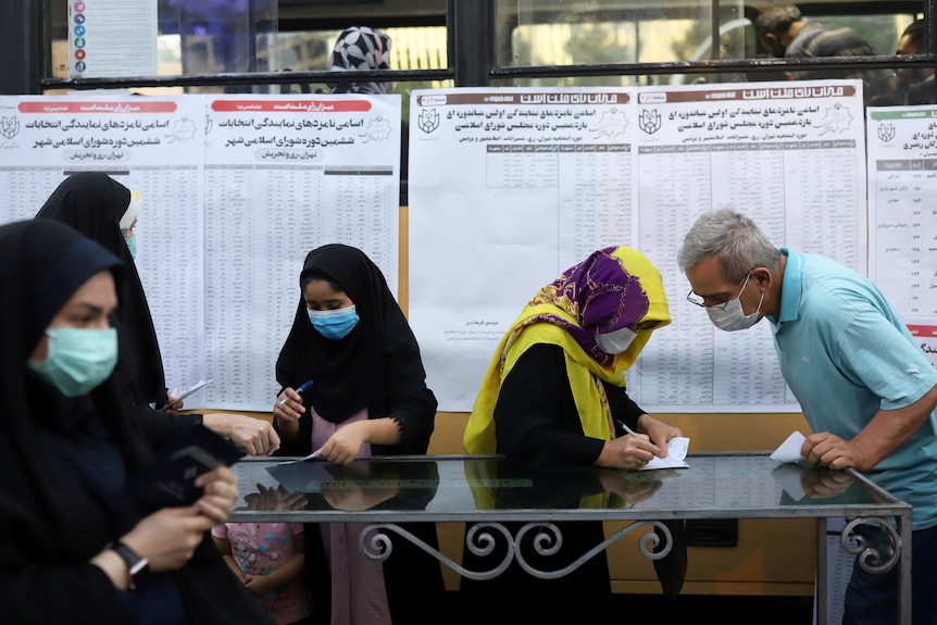
[[[89,393],[108,379],[117,364],[116,328],[52,327],[46,334],[46,362],[30,359],[27,364],[65,397]]]

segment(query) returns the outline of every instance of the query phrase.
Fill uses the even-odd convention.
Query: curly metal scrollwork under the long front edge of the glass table
[[[552,523],[527,523],[517,530],[516,536],[511,536],[511,532],[501,523],[485,522],[472,525],[465,536],[465,543],[469,550],[475,555],[484,557],[491,554],[497,545],[494,534],[500,534],[501,538],[503,538],[508,545],[508,551],[504,554],[504,558],[497,566],[488,571],[470,571],[464,568],[453,560],[440,553],[439,550],[430,547],[395,523],[373,523],[367,525],[362,529],[358,539],[358,545],[361,552],[367,558],[383,562],[390,557],[393,549],[391,538],[386,533],[386,530],[391,530],[399,534],[401,537],[405,538],[426,553],[433,555],[436,560],[459,573],[459,575],[467,577],[469,579],[492,579],[507,571],[511,565],[511,562],[515,559],[517,560],[517,564],[534,577],[539,577],[541,579],[555,579],[576,571],[596,554],[604,551],[610,545],[617,542],[639,528],[651,528],[650,532],[642,534],[638,539],[638,546],[645,558],[648,558],[649,560],[660,560],[670,553],[671,548],[673,547],[673,537],[667,526],[659,521],[637,522],[628,525],[580,555],[567,566],[553,571],[541,571],[539,568],[535,568],[526,561],[524,554],[521,553],[523,538],[530,532],[536,532],[533,537],[535,551],[540,555],[554,555],[563,546],[563,535],[560,532],[560,528]],[[661,536],[654,532],[654,529],[660,530],[663,536],[663,540],[661,540]],[[658,548],[660,550],[654,552],[654,549]]]

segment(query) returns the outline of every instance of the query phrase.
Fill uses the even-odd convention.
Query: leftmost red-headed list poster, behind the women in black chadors
[[[136,263],[170,387],[205,376],[204,118],[198,96],[0,97],[0,223],[33,218],[77,172],[143,195]]]

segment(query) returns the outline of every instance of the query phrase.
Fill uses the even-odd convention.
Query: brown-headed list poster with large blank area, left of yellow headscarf
[[[410,322],[440,410],[472,410],[540,287],[629,243],[634,120],[624,89],[412,93]]]

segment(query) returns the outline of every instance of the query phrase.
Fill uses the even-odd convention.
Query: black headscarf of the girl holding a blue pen
[[[333,243],[305,257],[300,289],[311,273],[340,285],[360,321],[345,338],[326,339],[309,321],[300,292],[292,328],[276,362],[277,382],[297,388],[312,379],[304,403],[334,423],[365,407],[371,418],[388,416],[404,401],[425,402],[421,409],[429,408],[432,421],[436,398],[426,388],[416,338],[377,265],[359,249]]]

